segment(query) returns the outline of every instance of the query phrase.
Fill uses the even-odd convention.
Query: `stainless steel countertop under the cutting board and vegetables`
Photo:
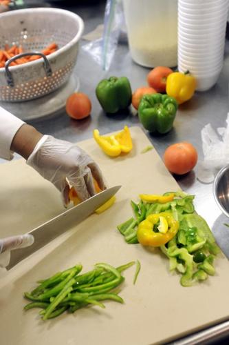
[[[85,21],[85,33],[91,32],[98,24],[103,23],[104,1],[96,1],[95,5],[87,4],[86,6],[67,7],[61,5],[61,3],[66,2],[58,1],[52,3],[52,6],[72,10],[79,14]],[[85,43],[86,41],[81,40],[80,45],[83,46]],[[131,81],[132,89],[135,90],[139,86],[146,85],[146,75],[148,72],[149,68],[138,66],[131,60],[127,44],[122,43],[118,45],[116,55],[111,63],[111,68],[107,72],[102,71],[87,52],[80,49],[74,74],[80,79],[80,91],[85,92],[91,99],[91,117],[81,121],[74,121],[63,112],[56,117],[38,119],[30,122],[30,124],[44,134],[54,135],[59,139],[74,142],[91,138],[94,128],[98,128],[101,134],[105,134],[107,132],[121,130],[124,124],[127,124],[127,126],[141,126],[138,117],[133,116],[131,112],[118,115],[117,117],[108,117],[105,115],[96,99],[95,89],[98,81],[104,77],[125,75]],[[224,66],[217,84],[207,92],[195,92],[193,99],[179,106],[174,128],[168,134],[153,136],[145,131],[161,157],[168,145],[178,141],[190,141],[197,148],[199,160],[203,158],[200,131],[208,123],[212,124],[213,128],[225,126],[226,116],[229,112],[228,82],[229,41],[226,41]],[[15,159],[17,158],[18,156],[15,157]],[[0,163],[2,162],[3,160],[1,159]],[[195,172],[196,168],[188,175],[179,177],[177,181],[184,191],[196,195],[195,207],[197,212],[206,218],[209,226],[217,234],[220,227],[223,228],[223,222],[228,221],[228,219],[221,214],[221,211],[215,203],[212,194],[212,184],[201,184],[197,181]],[[220,331],[223,327],[226,328],[226,331]],[[214,333],[214,343],[225,334],[228,335],[229,339],[228,324],[221,324],[217,329],[214,328]],[[204,336],[204,338],[199,338],[198,340],[198,334],[202,337]],[[184,342],[176,342],[175,344],[212,344],[213,338],[208,339],[209,333],[197,333],[197,335],[194,337],[194,342],[192,340],[193,338],[187,338]]]

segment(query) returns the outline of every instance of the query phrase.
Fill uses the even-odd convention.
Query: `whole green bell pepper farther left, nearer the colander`
[[[96,86],[96,96],[105,112],[111,114],[131,104],[132,90],[127,77],[102,79]]]

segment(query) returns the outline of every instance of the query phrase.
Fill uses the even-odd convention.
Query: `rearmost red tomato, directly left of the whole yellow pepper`
[[[157,92],[166,92],[166,80],[173,70],[168,67],[157,66],[153,68],[147,75],[147,81],[151,88],[155,88]]]

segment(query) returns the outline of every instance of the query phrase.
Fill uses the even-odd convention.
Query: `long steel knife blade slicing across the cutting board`
[[[91,213],[94,213],[96,208],[102,206],[102,204],[105,204],[107,200],[113,197],[120,188],[121,186],[107,188],[106,190],[103,190],[93,197],[81,202],[77,206],[69,208],[69,210],[66,210],[60,215],[46,221],[41,226],[31,230],[29,234],[34,236],[34,244],[26,248],[12,250],[10,263],[6,266],[6,269],[10,270],[23,259],[36,252],[36,250],[39,250],[45,246],[45,244],[65,233],[72,225],[78,225],[81,221],[91,215]]]

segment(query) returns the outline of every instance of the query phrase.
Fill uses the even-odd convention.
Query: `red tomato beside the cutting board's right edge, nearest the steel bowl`
[[[164,152],[166,168],[177,175],[183,175],[192,170],[197,164],[197,159],[197,150],[186,141],[168,146]]]

